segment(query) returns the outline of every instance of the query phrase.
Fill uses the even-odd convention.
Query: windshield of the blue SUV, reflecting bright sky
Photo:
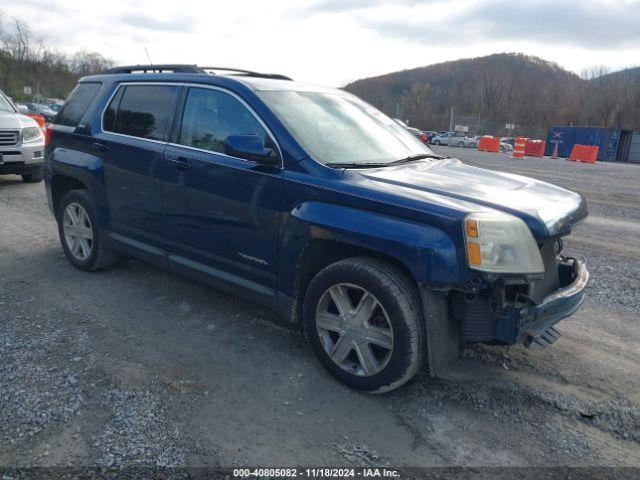
[[[405,128],[352,95],[257,93],[307,153],[325,165],[385,164],[416,155],[433,155]]]

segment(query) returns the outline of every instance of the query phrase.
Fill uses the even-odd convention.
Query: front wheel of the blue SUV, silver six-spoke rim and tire
[[[350,311],[356,312],[348,320],[345,320],[347,316],[338,312],[338,303],[333,300],[331,293],[335,289],[346,291],[348,305],[352,307]],[[359,289],[364,293],[358,299]],[[358,308],[353,306],[361,306],[365,294],[369,295],[367,298],[370,302],[377,301],[377,305],[365,321],[366,326],[354,328],[349,322],[359,324],[361,320],[357,315]],[[325,318],[335,321],[336,317],[339,326],[335,331],[323,328],[329,323]],[[377,259],[348,258],[320,271],[307,288],[303,322],[307,339],[320,363],[335,378],[358,390],[369,393],[394,390],[409,381],[425,359],[425,328],[416,287],[400,270]],[[389,328],[385,327],[385,323]],[[336,327],[336,324],[331,327]],[[363,339],[362,332],[378,340],[380,332],[383,332],[383,341],[379,345],[367,344],[369,338]],[[349,344],[344,343],[347,338],[351,339]],[[363,341],[364,346],[361,343]],[[391,345],[390,350],[388,345],[384,348],[380,346],[387,343]],[[353,346],[337,348],[338,345]],[[340,363],[334,361],[329,353],[333,352],[334,358],[338,353],[337,357],[341,358],[339,352],[347,349],[349,353]],[[365,351],[372,357],[365,355]],[[363,362],[365,356],[373,358],[373,361]],[[366,372],[365,364],[372,367],[369,372]]]

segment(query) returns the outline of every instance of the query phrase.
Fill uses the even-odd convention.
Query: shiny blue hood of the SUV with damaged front
[[[351,170],[355,172],[355,170]],[[457,159],[359,171],[368,188],[411,200],[456,202],[466,213],[499,210],[527,223],[536,237],[568,232],[587,216],[584,198],[533,178],[465,165]],[[453,202],[452,202],[453,200]]]

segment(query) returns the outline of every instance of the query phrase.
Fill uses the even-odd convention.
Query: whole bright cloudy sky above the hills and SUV
[[[640,0],[0,0],[66,53],[196,63],[343,86],[397,70],[522,52],[581,74],[640,65]]]

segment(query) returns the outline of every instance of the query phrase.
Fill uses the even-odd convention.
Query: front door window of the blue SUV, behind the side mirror
[[[256,117],[235,97],[217,90],[192,88],[182,116],[179,143],[224,153],[229,135],[267,135]]]

